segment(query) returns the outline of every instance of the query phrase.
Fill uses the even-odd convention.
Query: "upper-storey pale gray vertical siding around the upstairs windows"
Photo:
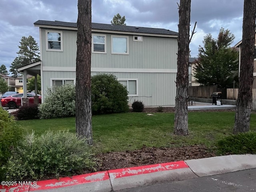
[[[42,29],[44,66],[76,66],[76,31],[62,30],[62,35],[63,52],[46,51],[46,30]],[[129,55],[122,55],[111,54],[111,35],[106,35],[107,53],[92,53],[92,67],[177,69],[176,38],[143,36],[143,42],[135,42],[129,35]]]

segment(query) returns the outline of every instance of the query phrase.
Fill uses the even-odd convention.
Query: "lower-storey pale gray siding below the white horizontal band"
[[[92,76],[96,72],[92,72]],[[112,73],[120,79],[138,79],[138,96],[129,97],[129,104],[141,100],[145,106],[175,105],[176,74],[174,73]],[[75,78],[76,72],[45,71],[44,90],[50,87],[50,78]],[[45,92],[46,93],[46,92]]]

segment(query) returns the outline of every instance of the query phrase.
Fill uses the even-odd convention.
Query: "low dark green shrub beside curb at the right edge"
[[[256,154],[256,132],[230,135],[217,143],[219,154]]]

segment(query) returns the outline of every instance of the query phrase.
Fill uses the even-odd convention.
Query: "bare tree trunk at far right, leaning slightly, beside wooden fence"
[[[242,52],[234,134],[247,132],[252,111],[256,0],[244,0]]]

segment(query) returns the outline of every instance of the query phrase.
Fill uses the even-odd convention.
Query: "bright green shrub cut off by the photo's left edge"
[[[22,129],[16,125],[14,117],[0,107],[0,166],[7,162],[11,149],[16,146],[21,134]]]

